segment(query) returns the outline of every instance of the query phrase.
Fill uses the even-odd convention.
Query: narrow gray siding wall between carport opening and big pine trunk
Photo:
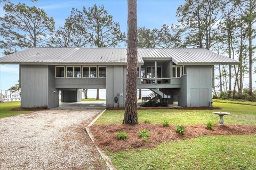
[[[106,82],[106,107],[118,107],[114,98],[118,97],[119,107],[125,105],[125,87],[126,87],[126,66],[107,66]],[[117,96],[123,94],[123,96]]]

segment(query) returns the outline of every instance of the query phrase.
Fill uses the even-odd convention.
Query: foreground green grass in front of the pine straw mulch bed
[[[117,169],[255,169],[256,135],[199,137],[110,153]]]

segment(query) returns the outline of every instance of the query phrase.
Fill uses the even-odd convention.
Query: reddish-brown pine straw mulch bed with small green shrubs
[[[175,132],[175,125],[163,128],[160,124],[141,123],[131,125],[92,125],[90,130],[94,136],[95,143],[103,150],[111,152],[122,149],[152,148],[162,142],[171,140],[191,139],[205,135],[243,135],[256,134],[256,126],[249,125],[215,125],[213,130],[207,130],[204,125],[186,125],[185,134],[181,135]],[[138,137],[139,131],[147,129],[150,133],[149,141],[143,142]],[[129,138],[127,140],[117,140],[116,133],[125,131]]]

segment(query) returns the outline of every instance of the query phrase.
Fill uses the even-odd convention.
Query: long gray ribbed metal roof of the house
[[[0,58],[0,64],[119,64],[125,65],[126,48],[32,47]],[[138,48],[138,64],[172,60],[176,64],[239,64],[203,48]]]

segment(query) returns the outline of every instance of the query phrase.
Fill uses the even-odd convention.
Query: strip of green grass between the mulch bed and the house
[[[220,111],[230,112],[230,115],[224,116],[225,124],[243,124],[256,125],[256,106],[214,103],[214,106],[221,107]],[[214,110],[218,111],[218,110]],[[139,110],[138,120],[140,123],[146,119],[153,124],[162,124],[164,120],[170,124],[205,124],[211,121],[218,124],[219,116],[208,110],[178,110],[178,109],[156,109],[156,110]],[[124,117],[124,111],[106,111],[95,124],[121,124]]]

